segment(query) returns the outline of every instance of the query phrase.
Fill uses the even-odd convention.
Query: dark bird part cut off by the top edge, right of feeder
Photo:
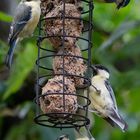
[[[116,3],[117,8],[120,9],[122,7],[125,7],[129,4],[130,0],[98,0],[100,2],[106,2],[106,3]]]

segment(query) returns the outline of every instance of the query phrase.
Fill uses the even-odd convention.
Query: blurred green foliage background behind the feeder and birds
[[[92,63],[101,63],[111,71],[119,110],[129,128],[122,133],[94,116],[91,132],[97,140],[139,140],[140,136],[140,1],[131,0],[120,10],[115,4],[94,3]],[[0,3],[0,140],[55,140],[58,129],[38,126],[35,116],[35,38],[22,41],[11,71],[4,60],[7,38],[16,0]],[[71,135],[73,130],[68,131]],[[74,138],[71,138],[74,140]]]

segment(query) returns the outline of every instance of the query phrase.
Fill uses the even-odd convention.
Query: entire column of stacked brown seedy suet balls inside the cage
[[[65,5],[65,8],[64,8]],[[83,31],[80,0],[41,0],[43,33],[52,44],[55,54],[53,75],[42,87],[39,104],[44,114],[76,114],[76,88],[84,85],[87,65],[77,44]],[[62,114],[64,113],[64,115]]]

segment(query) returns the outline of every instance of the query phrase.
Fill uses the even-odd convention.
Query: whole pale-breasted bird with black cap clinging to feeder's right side
[[[94,75],[89,87],[89,99],[91,100],[89,111],[125,132],[128,125],[118,112],[115,95],[109,82],[109,70],[100,64],[92,68]]]

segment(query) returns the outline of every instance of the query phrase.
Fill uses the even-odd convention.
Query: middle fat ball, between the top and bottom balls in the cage
[[[84,77],[87,67],[81,58],[80,48],[76,45],[65,47],[64,49],[60,48],[57,55],[53,60],[54,73],[63,74],[64,72],[65,74],[71,75],[68,77],[74,80],[75,86],[82,86],[84,84],[84,78],[77,76]]]

